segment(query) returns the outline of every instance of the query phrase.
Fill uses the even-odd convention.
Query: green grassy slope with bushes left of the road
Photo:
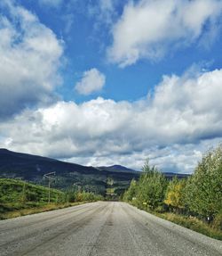
[[[74,198],[75,195],[75,198]],[[0,178],[0,219],[12,219],[28,214],[53,211],[85,202],[95,202],[101,196],[90,193],[66,192],[49,189],[20,179]]]

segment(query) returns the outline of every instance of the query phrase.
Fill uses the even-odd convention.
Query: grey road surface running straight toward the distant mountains
[[[124,202],[93,202],[0,221],[0,255],[222,255],[222,242]]]

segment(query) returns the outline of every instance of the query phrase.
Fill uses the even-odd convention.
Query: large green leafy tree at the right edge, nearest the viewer
[[[222,145],[203,154],[188,178],[185,199],[190,211],[205,218],[222,210]]]

